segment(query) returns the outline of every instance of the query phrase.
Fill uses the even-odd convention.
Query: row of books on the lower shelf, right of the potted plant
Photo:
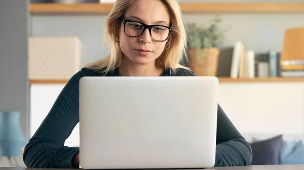
[[[283,60],[281,51],[248,50],[241,41],[234,46],[221,48],[218,62],[217,77],[304,77],[304,60]]]

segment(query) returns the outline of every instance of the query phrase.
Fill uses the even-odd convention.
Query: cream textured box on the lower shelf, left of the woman
[[[30,37],[28,79],[69,79],[81,69],[81,54],[78,37]]]

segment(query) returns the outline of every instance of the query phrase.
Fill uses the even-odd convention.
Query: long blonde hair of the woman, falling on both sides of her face
[[[120,20],[122,15],[134,1],[136,0],[116,0],[115,5],[105,21],[105,37],[109,44],[110,53],[106,58],[88,64],[86,68],[94,71],[108,72],[120,66],[123,59],[123,52],[115,38],[118,34],[118,28],[120,28],[122,23]],[[179,4],[176,0],[161,1],[166,5],[170,14],[172,31],[168,41],[171,46],[163,51],[159,58],[156,59],[155,64],[158,67],[170,68],[173,72],[177,68],[189,70],[180,64],[183,61],[183,57],[187,56],[187,36]],[[185,60],[187,60],[186,57]]]

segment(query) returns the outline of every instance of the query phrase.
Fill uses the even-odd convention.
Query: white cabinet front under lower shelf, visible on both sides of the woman
[[[30,135],[44,120],[64,85],[30,87]],[[241,133],[303,134],[304,82],[220,83],[219,103]],[[79,126],[66,140],[79,146]]]

